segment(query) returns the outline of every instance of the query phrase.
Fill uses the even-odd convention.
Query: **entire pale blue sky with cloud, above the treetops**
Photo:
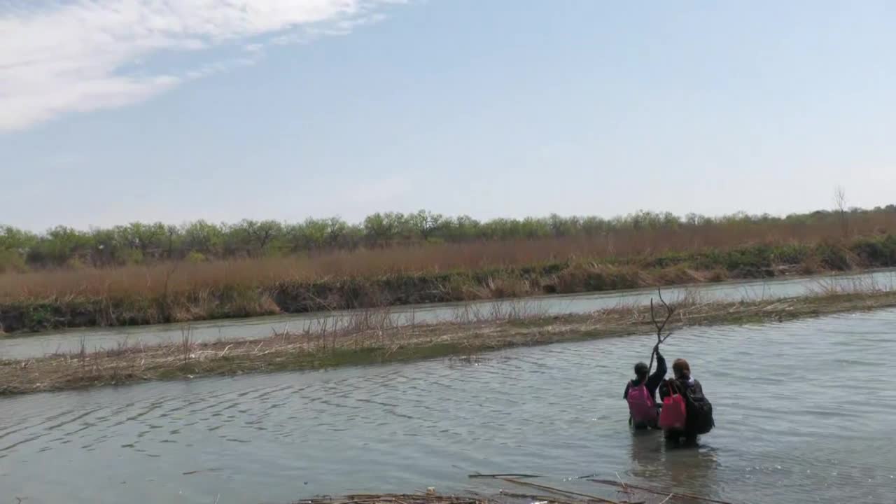
[[[896,203],[896,4],[0,0],[0,223]]]

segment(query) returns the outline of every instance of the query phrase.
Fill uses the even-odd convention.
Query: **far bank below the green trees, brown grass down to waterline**
[[[613,291],[896,265],[896,213],[0,274],[0,333]],[[872,233],[872,234],[864,234]],[[796,241],[794,241],[796,240]]]

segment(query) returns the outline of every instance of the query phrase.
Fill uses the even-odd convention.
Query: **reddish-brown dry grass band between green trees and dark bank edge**
[[[868,213],[850,221],[853,236],[896,232],[896,213]],[[227,285],[260,286],[284,280],[375,277],[383,274],[474,271],[570,258],[656,256],[745,244],[813,244],[840,239],[839,222],[732,222],[677,230],[615,230],[596,237],[428,244],[331,251],[209,263],[130,265],[0,274],[0,300],[65,296],[162,295]]]

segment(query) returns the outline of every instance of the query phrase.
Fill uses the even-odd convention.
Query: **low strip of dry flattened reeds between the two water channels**
[[[782,322],[834,313],[896,307],[896,292],[820,293],[783,300],[701,302],[676,307],[668,329],[684,326]],[[326,369],[437,357],[474,359],[482,352],[516,346],[573,342],[653,331],[650,308],[621,307],[586,315],[548,317],[524,310],[481,316],[459,311],[456,321],[431,325],[392,322],[387,310],[372,310],[300,334],[275,334],[245,341],[195,342],[188,328],[182,341],[151,347],[0,361],[0,394],[26,394],[147,381],[233,376],[254,372]]]

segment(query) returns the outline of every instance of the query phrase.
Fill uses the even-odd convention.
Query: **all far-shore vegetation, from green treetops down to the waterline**
[[[131,224],[0,235],[0,331],[519,298],[896,265],[896,206],[477,222]]]

